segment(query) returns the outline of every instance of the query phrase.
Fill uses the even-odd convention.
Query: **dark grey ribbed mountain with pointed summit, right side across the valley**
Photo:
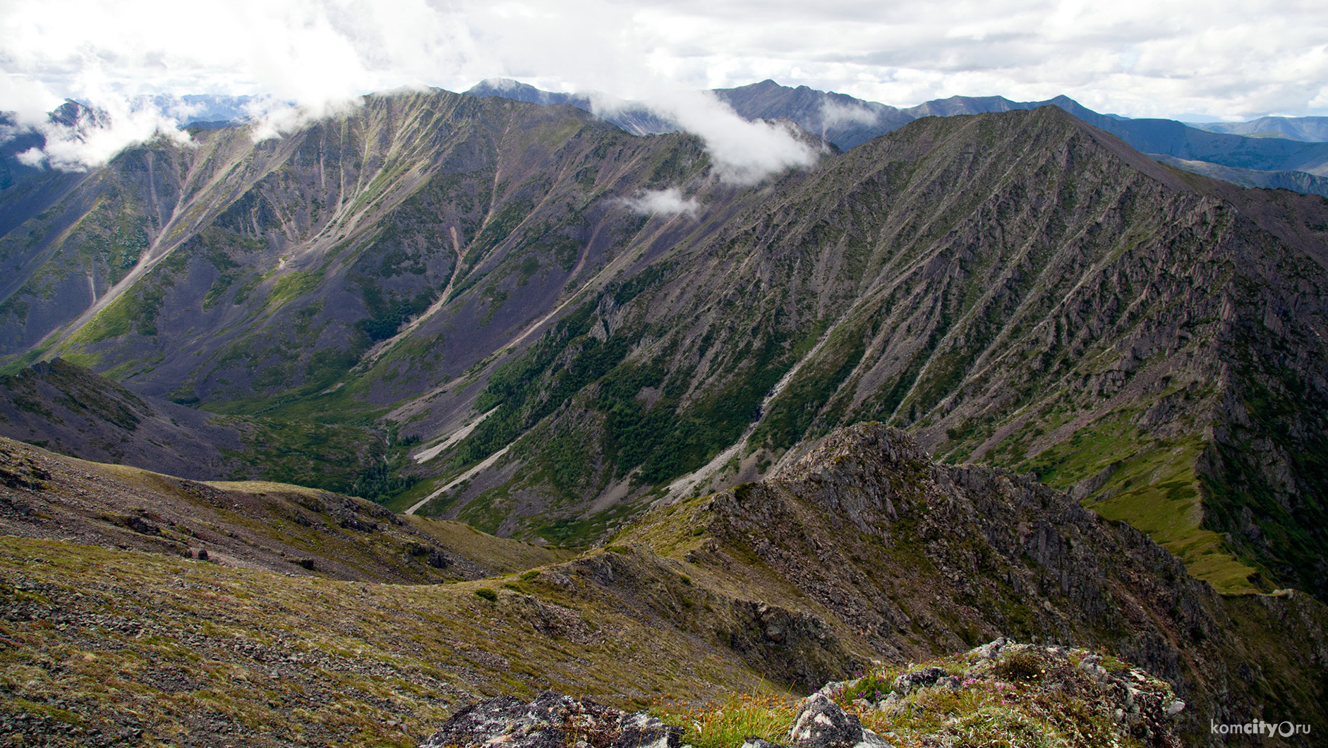
[[[473,465],[526,436],[425,510],[539,533],[564,504],[562,530],[591,529],[712,458],[732,485],[886,419],[948,460],[1077,486],[1224,589],[1260,582],[1214,530],[1259,534],[1274,578],[1321,590],[1317,562],[1291,561],[1324,554],[1317,468],[1291,456],[1324,433],[1325,207],[1182,178],[1053,108],[915,122],[732,203],[648,284],[564,318],[444,454]],[[1270,387],[1295,403],[1252,403]],[[1242,401],[1286,434],[1268,456],[1293,508],[1251,506],[1243,529],[1201,501],[1248,501],[1211,470]]]

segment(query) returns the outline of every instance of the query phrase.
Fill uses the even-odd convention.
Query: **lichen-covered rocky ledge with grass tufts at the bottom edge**
[[[552,691],[530,703],[498,696],[458,711],[420,748],[1177,748],[1183,709],[1167,683],[1114,658],[997,639],[827,683],[784,705],[628,713]]]

